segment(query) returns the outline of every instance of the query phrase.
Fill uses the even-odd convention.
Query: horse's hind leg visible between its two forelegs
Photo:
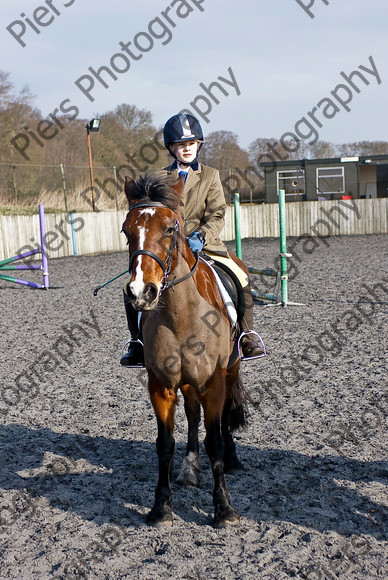
[[[198,426],[201,420],[201,407],[194,387],[184,385],[181,391],[185,401],[185,412],[188,424],[186,455],[177,483],[198,487],[200,483]]]

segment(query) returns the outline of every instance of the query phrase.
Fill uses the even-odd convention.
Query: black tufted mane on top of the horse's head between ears
[[[136,181],[132,181],[126,188],[126,195],[129,203],[134,201],[157,201],[176,211],[179,197],[172,188],[175,180],[165,173],[145,173],[140,175]]]

